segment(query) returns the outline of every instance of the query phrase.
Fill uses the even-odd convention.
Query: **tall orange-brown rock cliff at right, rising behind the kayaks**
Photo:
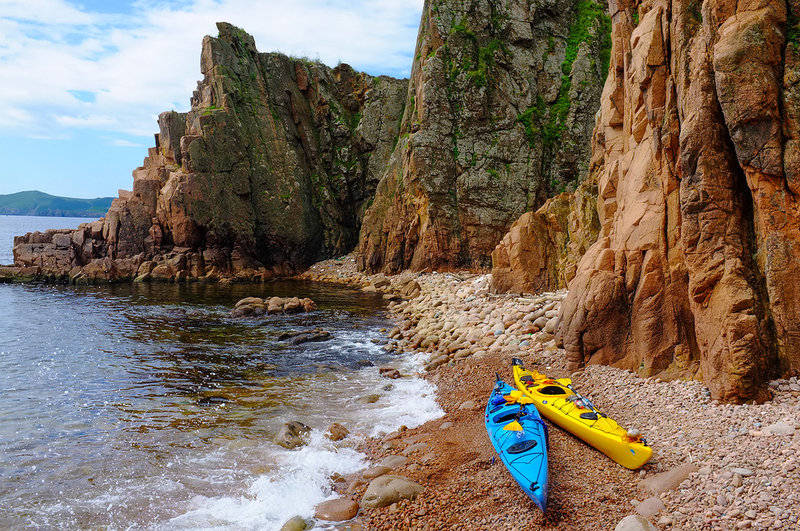
[[[765,396],[800,369],[800,3],[620,0],[594,150],[600,239],[558,337],[574,366]]]

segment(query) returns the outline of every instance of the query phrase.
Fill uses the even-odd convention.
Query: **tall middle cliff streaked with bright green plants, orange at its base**
[[[426,0],[400,142],[364,218],[369,271],[484,267],[585,176],[608,19],[587,0]]]

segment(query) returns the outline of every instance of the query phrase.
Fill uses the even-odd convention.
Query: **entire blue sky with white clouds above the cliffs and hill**
[[[189,110],[204,35],[408,77],[423,0],[0,0],[0,194],[117,196],[163,111]]]

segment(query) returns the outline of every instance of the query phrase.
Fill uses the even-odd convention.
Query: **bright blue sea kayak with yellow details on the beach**
[[[486,404],[486,431],[500,460],[525,494],[547,507],[547,426],[533,404],[520,404],[514,388],[497,378]],[[519,395],[519,393],[514,393]],[[508,398],[506,398],[508,397]]]

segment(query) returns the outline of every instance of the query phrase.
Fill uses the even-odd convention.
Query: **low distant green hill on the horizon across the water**
[[[58,197],[44,192],[29,191],[0,194],[0,214],[12,216],[74,216],[102,217],[111,206],[113,197],[75,199]]]

